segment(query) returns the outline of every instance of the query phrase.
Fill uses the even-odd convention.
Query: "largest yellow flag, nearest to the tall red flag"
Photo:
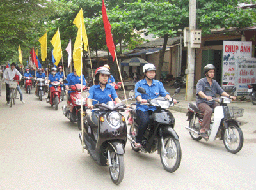
[[[81,58],[83,56],[83,43],[84,43],[84,50],[87,51],[87,46],[88,46],[88,39],[87,39],[87,34],[84,26],[84,16],[83,16],[82,8],[79,11],[79,13],[76,15],[76,18],[73,21],[73,23],[76,25],[76,27],[78,27],[76,41],[75,41],[74,50],[73,50],[73,62],[74,62],[74,67],[76,69],[77,75],[81,76],[81,67],[83,66],[81,62]]]

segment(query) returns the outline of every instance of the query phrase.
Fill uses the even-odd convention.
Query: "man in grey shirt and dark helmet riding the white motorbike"
[[[207,131],[210,129],[210,121],[214,108],[220,106],[219,103],[209,101],[212,97],[216,97],[216,94],[221,96],[227,96],[232,99],[236,99],[235,96],[230,96],[221,89],[220,85],[214,80],[215,66],[213,64],[207,64],[204,67],[205,78],[198,80],[196,84],[196,106],[204,112],[204,119],[202,122],[202,128],[200,133],[204,139],[208,139]],[[210,87],[211,91],[205,91],[205,87]]]

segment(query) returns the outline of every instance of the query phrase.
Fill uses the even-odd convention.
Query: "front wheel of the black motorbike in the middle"
[[[175,172],[179,168],[181,162],[181,147],[179,140],[176,140],[171,135],[165,136],[164,145],[161,145],[160,149],[160,158],[164,170]]]

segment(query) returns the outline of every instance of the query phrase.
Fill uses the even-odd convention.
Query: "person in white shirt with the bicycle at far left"
[[[15,69],[16,64],[15,62],[13,62],[11,64],[10,68],[6,68],[4,73],[3,73],[3,77],[4,77],[4,82],[5,82],[5,86],[6,86],[6,101],[7,104],[10,104],[10,88],[9,88],[9,82],[13,80],[13,78],[15,77],[15,75],[18,75],[19,78],[22,78],[22,75],[20,74],[20,72]]]

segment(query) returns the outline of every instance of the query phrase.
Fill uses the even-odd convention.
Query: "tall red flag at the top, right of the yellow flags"
[[[102,11],[103,24],[104,24],[105,33],[106,33],[106,41],[107,41],[108,50],[109,50],[110,54],[112,55],[112,59],[114,62],[116,48],[114,45],[114,41],[113,41],[113,37],[112,37],[112,33],[111,33],[111,25],[108,21],[108,15],[107,15],[107,11],[106,11],[106,6],[104,4],[104,0],[102,0],[101,11]]]

